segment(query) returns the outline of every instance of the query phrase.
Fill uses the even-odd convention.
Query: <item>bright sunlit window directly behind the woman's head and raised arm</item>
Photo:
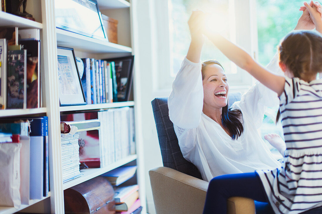
[[[239,10],[239,1],[235,0],[169,0],[168,1],[168,18],[169,18],[169,51],[170,51],[170,72],[169,79],[173,81],[175,75],[180,69],[181,63],[187,54],[190,44],[190,32],[188,27],[188,19],[195,9],[200,9],[205,13],[212,15],[212,20],[209,22],[208,27],[214,27],[221,31],[223,36],[229,38],[233,42],[238,42],[242,37],[236,35],[236,31],[239,29],[249,29],[249,26],[236,25],[235,17],[242,14],[243,16],[249,16],[248,9],[246,13],[242,13]],[[238,11],[237,9],[238,8]],[[235,12],[236,11],[236,12]],[[240,16],[239,16],[240,17]],[[243,19],[243,17],[240,17]],[[249,20],[249,17],[246,19]],[[247,24],[246,24],[247,25]],[[248,38],[250,38],[248,33]],[[237,37],[237,38],[236,38]],[[241,44],[240,44],[241,45]],[[247,44],[248,45],[248,44]],[[246,46],[247,46],[246,45]],[[242,45],[242,47],[245,47]],[[247,48],[246,48],[247,49]],[[250,49],[250,48],[248,48]],[[252,79],[246,74],[245,71],[237,68],[228,58],[226,58],[215,46],[205,39],[203,46],[201,61],[216,59],[224,67],[225,72],[229,79],[231,90],[234,88],[248,88],[252,84]],[[165,75],[163,73],[163,75]],[[170,85],[171,87],[171,85]]]

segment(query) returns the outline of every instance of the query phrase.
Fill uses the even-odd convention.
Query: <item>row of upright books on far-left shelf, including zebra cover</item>
[[[0,108],[39,108],[39,29],[0,28],[0,38]]]

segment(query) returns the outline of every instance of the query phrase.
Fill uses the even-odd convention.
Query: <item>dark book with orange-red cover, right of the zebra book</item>
[[[27,93],[26,108],[40,107],[40,40],[19,40],[22,49],[27,50]]]

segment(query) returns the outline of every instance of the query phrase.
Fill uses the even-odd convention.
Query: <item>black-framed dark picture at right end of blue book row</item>
[[[117,85],[117,102],[128,101],[132,80],[134,56],[104,59],[115,63],[115,79]],[[114,78],[113,78],[114,79]],[[113,97],[114,102],[114,97]]]

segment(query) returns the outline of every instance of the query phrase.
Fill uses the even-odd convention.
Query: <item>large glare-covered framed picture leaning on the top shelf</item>
[[[55,0],[55,17],[56,28],[108,40],[95,0]]]

